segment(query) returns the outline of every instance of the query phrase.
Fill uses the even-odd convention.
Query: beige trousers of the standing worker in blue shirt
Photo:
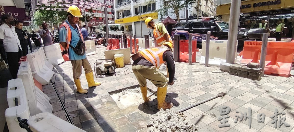
[[[71,65],[73,66],[74,79],[79,79],[82,75],[82,66],[85,70],[85,73],[90,73],[93,71],[87,58],[83,60],[71,60]]]

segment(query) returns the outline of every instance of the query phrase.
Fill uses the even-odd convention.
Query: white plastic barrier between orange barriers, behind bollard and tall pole
[[[209,59],[208,64],[211,66],[220,66],[221,62],[225,62],[227,56],[227,44],[228,40],[210,40],[209,43]],[[238,44],[238,41],[236,45]],[[237,48],[236,48],[237,51]],[[200,64],[205,64],[206,53],[206,40],[202,41],[201,59]],[[235,62],[237,61],[237,55],[235,56]]]

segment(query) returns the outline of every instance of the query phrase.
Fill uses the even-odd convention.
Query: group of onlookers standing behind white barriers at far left
[[[32,41],[36,47],[52,45],[54,37],[46,23],[42,24],[42,29],[30,34],[23,29],[21,21],[14,21],[13,16],[3,15],[0,26],[0,54],[1,58],[8,63],[9,70],[13,78],[17,78],[18,62],[21,56],[26,56],[29,49],[33,52]],[[41,41],[41,38],[43,41]],[[29,46],[29,49],[28,49]]]

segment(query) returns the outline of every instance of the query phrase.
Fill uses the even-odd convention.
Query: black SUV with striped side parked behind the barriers
[[[202,19],[202,21],[188,21],[177,23],[172,29],[172,36],[180,35],[180,39],[188,40],[189,34],[192,39],[197,39],[197,45],[202,45],[202,40],[206,40],[206,34],[211,32],[210,40],[228,40],[229,24],[216,19]],[[248,29],[239,28],[238,30],[238,48],[244,46],[245,40],[251,40],[247,37]]]

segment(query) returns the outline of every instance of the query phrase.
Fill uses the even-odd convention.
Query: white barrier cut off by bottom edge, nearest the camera
[[[47,112],[32,116],[28,124],[34,132],[86,132]]]

